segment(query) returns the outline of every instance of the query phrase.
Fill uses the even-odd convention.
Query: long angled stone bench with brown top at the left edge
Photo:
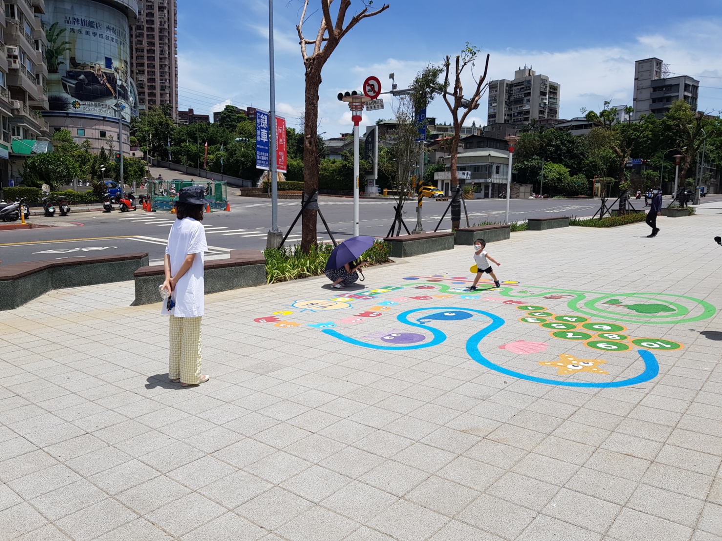
[[[51,291],[66,287],[131,280],[148,264],[148,252],[23,261],[0,267],[0,310],[12,310]]]

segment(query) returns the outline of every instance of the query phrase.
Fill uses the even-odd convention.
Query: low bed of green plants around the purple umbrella
[[[285,282],[308,278],[309,276],[321,276],[326,268],[326,261],[334,251],[334,245],[329,243],[319,244],[311,247],[308,254],[301,251],[300,245],[282,248],[266,248],[266,282]],[[361,256],[362,260],[368,260],[374,265],[386,263],[391,253],[391,247],[377,240],[373,246],[366,250]]]

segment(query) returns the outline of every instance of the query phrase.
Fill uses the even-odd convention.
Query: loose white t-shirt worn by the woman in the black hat
[[[206,232],[201,222],[193,218],[176,219],[170,227],[168,246],[165,253],[170,255],[170,276],[175,276],[186,260],[186,255],[197,254],[191,268],[185,273],[173,290],[175,307],[166,309],[163,301],[162,313],[175,317],[199,317],[204,313],[203,253],[208,250]]]

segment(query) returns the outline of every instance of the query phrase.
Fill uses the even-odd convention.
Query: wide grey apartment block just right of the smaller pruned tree
[[[532,119],[559,118],[559,96],[559,83],[524,66],[514,72],[511,81],[489,83],[487,123],[523,124]]]

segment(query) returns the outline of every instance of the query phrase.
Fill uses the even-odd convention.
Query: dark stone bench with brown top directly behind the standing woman
[[[261,286],[266,283],[266,258],[259,250],[233,250],[228,259],[205,261],[203,273],[206,294]],[[139,268],[135,271],[134,278],[134,306],[160,303],[158,286],[164,279],[162,265]]]

